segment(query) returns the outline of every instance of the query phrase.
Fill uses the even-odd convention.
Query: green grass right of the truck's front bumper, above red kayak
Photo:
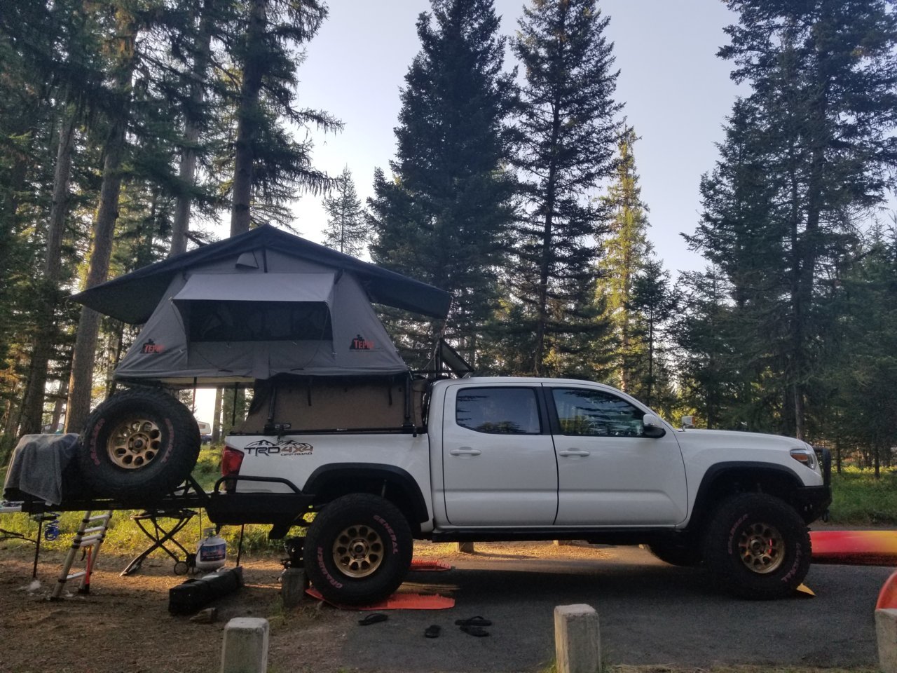
[[[897,472],[846,468],[832,474],[832,523],[852,526],[897,524]]]

